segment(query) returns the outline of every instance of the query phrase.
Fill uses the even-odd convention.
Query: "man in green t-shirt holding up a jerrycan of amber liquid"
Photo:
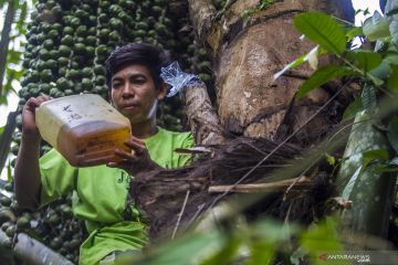
[[[106,61],[106,82],[112,104],[132,124],[130,152],[115,150],[121,162],[74,168],[56,151],[39,159],[41,140],[34,110],[48,96],[30,98],[22,110],[22,140],[15,165],[15,197],[20,206],[48,204],[74,191],[73,211],[85,221],[88,237],[81,246],[80,264],[98,264],[115,253],[139,251],[147,242],[145,224],[128,202],[129,176],[189,162],[176,148],[193,146],[191,134],[156,126],[156,108],[167,94],[160,68],[168,53],[148,44],[128,44]]]

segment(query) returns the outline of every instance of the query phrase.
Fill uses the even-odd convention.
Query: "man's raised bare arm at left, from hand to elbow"
[[[40,198],[39,147],[41,136],[35,125],[35,108],[50,97],[30,98],[22,109],[22,140],[17,157],[14,191],[21,208],[36,208]]]

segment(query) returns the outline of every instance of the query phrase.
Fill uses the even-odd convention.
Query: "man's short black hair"
[[[112,88],[112,76],[122,68],[132,64],[142,64],[148,67],[154,80],[155,87],[158,88],[163,80],[160,68],[171,63],[170,53],[166,50],[146,43],[129,43],[117,47],[105,62],[105,77],[108,88]]]

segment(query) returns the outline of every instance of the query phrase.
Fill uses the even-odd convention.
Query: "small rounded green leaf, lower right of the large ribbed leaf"
[[[347,52],[347,57],[355,63],[356,66],[369,72],[381,63],[381,55],[379,53],[367,50],[354,50]]]

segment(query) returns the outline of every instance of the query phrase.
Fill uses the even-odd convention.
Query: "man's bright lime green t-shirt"
[[[195,145],[190,132],[172,132],[159,128],[144,140],[150,158],[164,168],[179,168],[190,156],[178,155],[176,148]],[[125,220],[129,176],[106,166],[74,168],[55,149],[40,159],[41,205],[73,191],[73,212],[86,223],[88,237],[81,246],[80,264],[97,264],[114,251],[140,250],[147,242],[145,224],[137,211]]]

